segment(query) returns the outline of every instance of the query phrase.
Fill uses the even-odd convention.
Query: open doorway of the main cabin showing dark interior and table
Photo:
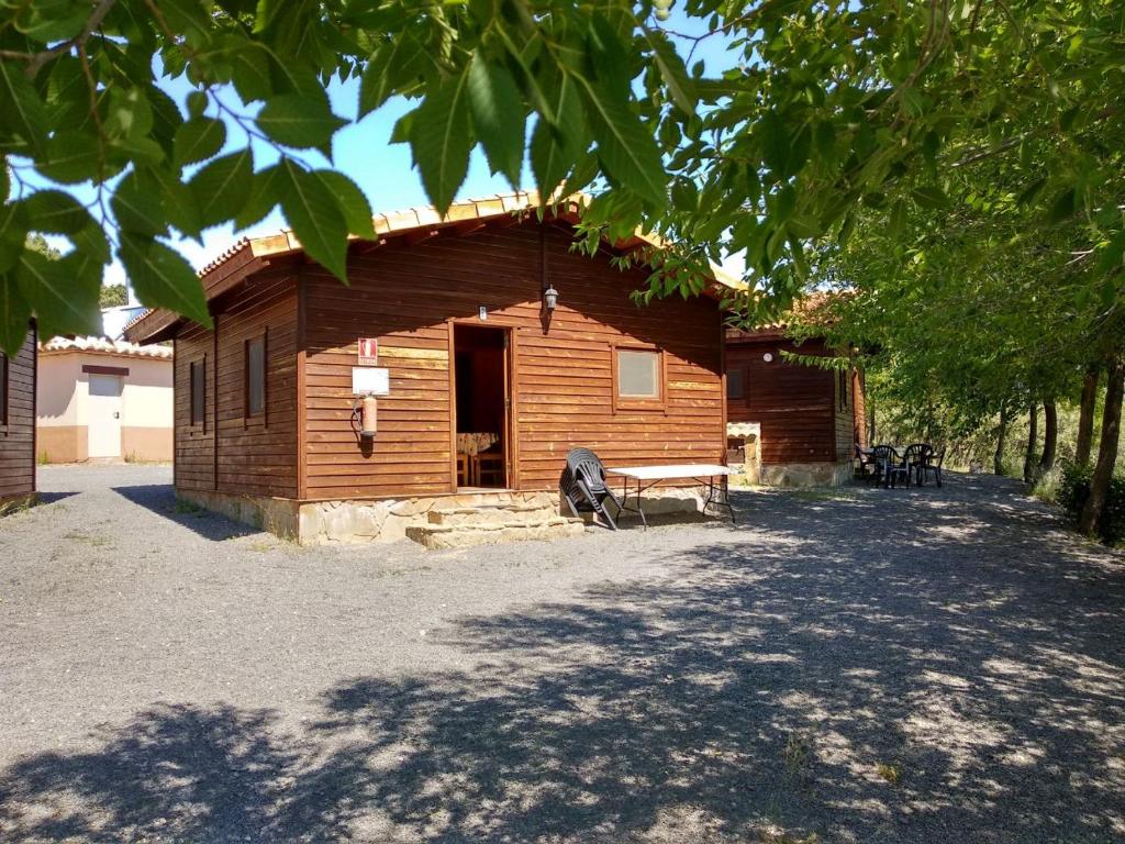
[[[510,477],[507,329],[453,326],[458,490],[503,490]]]

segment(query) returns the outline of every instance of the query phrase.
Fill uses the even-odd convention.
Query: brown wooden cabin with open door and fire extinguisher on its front
[[[608,466],[721,463],[717,303],[636,304],[645,273],[610,261],[637,244],[573,252],[577,208],[540,223],[537,205],[377,216],[346,287],[291,234],[243,241],[201,273],[214,330],[160,309],[129,325],[174,343],[178,495],[302,542],[360,541],[434,508],[550,501],[558,518],[575,446]],[[370,421],[354,378],[386,378]]]

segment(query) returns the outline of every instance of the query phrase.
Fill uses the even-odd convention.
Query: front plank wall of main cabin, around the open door
[[[644,275],[569,251],[572,233],[544,228],[547,278],[559,306],[540,312],[540,228],[490,225],[423,242],[395,239],[350,258],[351,286],[309,266],[304,273],[305,460],[303,497],[449,492],[454,487],[450,322],[512,330],[515,441],[512,482],[557,487],[567,451],[593,448],[606,465],[714,463],[724,452],[719,308],[708,299],[640,307]],[[478,308],[488,309],[487,321]],[[351,430],[351,367],[359,338],[378,338],[390,395],[379,399],[369,450]],[[665,399],[613,401],[616,345],[665,350]]]

